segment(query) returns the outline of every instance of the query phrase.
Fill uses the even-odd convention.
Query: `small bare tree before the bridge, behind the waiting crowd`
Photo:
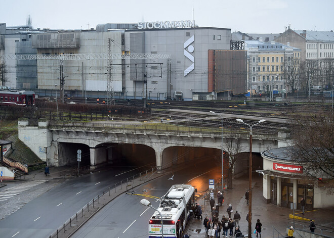
[[[225,142],[223,142],[224,151],[227,153],[228,169],[227,169],[227,188],[232,189],[232,175],[234,164],[240,158],[240,153],[243,150],[240,136],[236,135],[235,130],[224,132]]]

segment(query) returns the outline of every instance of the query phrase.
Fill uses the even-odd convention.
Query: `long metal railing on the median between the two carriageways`
[[[78,218],[83,218],[85,214],[96,211],[96,203],[100,204],[100,201],[104,201],[106,197],[112,196],[112,194],[116,194],[116,192],[127,192],[128,187],[132,186],[135,183],[135,179],[139,178],[140,181],[146,181],[148,178],[148,175],[153,175],[156,172],[156,168],[146,170],[144,172],[141,172],[139,174],[133,175],[132,177],[129,177],[127,179],[121,180],[118,183],[115,183],[114,185],[108,187],[105,189],[101,194],[97,195],[95,198],[93,198],[91,201],[87,203],[83,208],[81,208],[79,211],[77,211],[73,216],[69,218],[64,224],[62,224],[56,231],[54,231],[49,238],[63,236],[62,233],[65,233],[66,229],[72,227],[74,225],[74,222],[78,222]],[[145,179],[143,179],[145,178]],[[143,180],[142,180],[143,179]],[[122,190],[124,188],[124,191],[121,192],[119,190]]]

